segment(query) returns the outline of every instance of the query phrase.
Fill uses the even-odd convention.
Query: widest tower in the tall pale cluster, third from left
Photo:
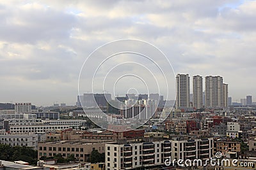
[[[205,77],[205,106],[223,107],[223,78],[221,76]]]

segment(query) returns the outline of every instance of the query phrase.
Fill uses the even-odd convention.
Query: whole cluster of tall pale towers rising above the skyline
[[[177,74],[176,76],[176,108],[199,109],[228,106],[228,84],[223,83],[221,76],[205,77],[205,93],[203,93],[202,76],[193,76],[192,103],[189,102],[189,79],[189,74]]]

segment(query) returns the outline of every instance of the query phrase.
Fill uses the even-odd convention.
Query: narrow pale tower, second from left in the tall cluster
[[[203,108],[203,78],[202,76],[193,76],[193,107]]]

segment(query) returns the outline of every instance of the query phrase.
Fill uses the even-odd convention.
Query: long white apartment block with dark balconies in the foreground
[[[166,159],[202,159],[212,157],[213,139],[154,141],[125,145],[106,144],[106,170],[163,166]]]

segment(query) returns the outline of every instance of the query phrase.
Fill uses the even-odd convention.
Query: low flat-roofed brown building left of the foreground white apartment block
[[[100,143],[99,140],[84,140],[38,143],[38,159],[42,156],[53,157],[58,154],[67,158],[68,155],[74,154],[77,160],[86,162],[90,158],[90,154],[93,150],[104,153],[106,143],[114,143],[114,141],[104,141],[104,143]]]

